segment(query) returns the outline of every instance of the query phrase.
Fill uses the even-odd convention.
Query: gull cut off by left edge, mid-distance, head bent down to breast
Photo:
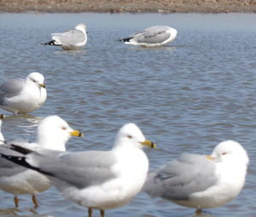
[[[15,116],[37,110],[46,97],[44,76],[38,72],[30,73],[26,79],[11,79],[0,86],[0,108]]]

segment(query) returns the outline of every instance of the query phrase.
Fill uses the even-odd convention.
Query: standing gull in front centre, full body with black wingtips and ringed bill
[[[117,208],[141,191],[148,174],[143,146],[155,147],[134,123],[119,129],[110,151],[32,151],[12,146],[24,156],[0,154],[5,159],[45,174],[67,199],[88,208]]]

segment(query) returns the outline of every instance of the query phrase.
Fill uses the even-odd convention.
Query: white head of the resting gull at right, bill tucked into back
[[[234,140],[224,140],[214,148],[211,155],[217,163],[245,164],[249,163],[247,151]]]

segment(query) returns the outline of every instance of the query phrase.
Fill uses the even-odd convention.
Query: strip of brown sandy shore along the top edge
[[[0,0],[0,12],[255,13],[256,0]]]

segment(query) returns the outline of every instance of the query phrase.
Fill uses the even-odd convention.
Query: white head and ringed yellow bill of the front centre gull
[[[146,140],[140,128],[134,123],[125,123],[116,135],[114,147],[137,147],[149,146],[155,148],[153,142]]]

